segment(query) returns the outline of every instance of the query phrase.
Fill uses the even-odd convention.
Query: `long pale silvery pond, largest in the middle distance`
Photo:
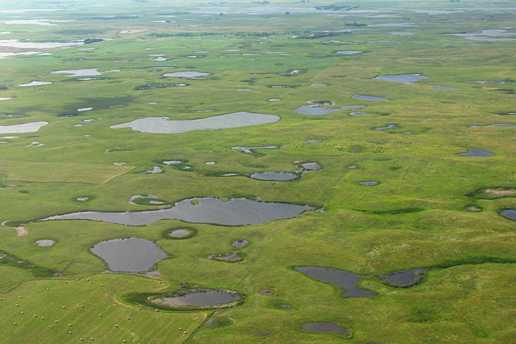
[[[262,125],[276,122],[279,116],[270,114],[252,114],[246,111],[235,112],[200,118],[197,120],[169,120],[168,117],[147,117],[120,125],[111,125],[111,128],[131,128],[142,133],[183,133],[193,130],[217,130],[250,125]]]

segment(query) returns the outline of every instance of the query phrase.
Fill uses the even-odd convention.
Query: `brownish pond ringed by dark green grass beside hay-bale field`
[[[188,290],[185,295],[178,297],[162,297],[159,303],[173,307],[194,305],[198,307],[209,307],[217,305],[230,305],[240,299],[236,292],[228,290],[200,289]]]

